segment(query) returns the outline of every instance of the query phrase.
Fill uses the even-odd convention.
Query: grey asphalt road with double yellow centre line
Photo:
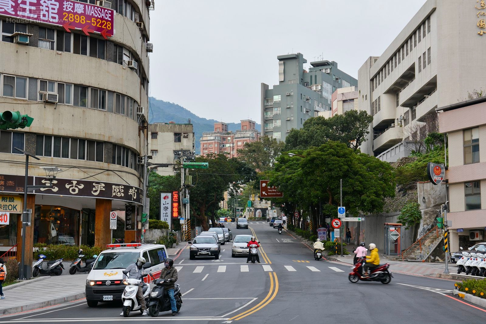
[[[394,274],[392,282],[350,283],[349,265],[315,261],[304,244],[266,222],[236,229],[255,231],[262,249],[261,264],[231,257],[231,244],[221,246],[219,260],[189,260],[189,249],[177,257],[183,293],[179,315],[157,318],[119,316],[121,305],[87,307],[76,301],[47,309],[1,317],[1,323],[74,323],[178,321],[182,323],[482,323],[486,310],[452,297],[453,282]],[[390,268],[393,272],[393,268]]]

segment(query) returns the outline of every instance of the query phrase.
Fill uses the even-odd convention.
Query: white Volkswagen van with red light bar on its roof
[[[143,273],[152,273],[155,278],[160,277],[164,262],[168,257],[165,245],[121,243],[107,244],[94,263],[86,280],[86,301],[89,307],[96,307],[99,302],[121,301],[121,294],[125,289],[123,273],[129,265],[135,263],[142,256],[145,258]],[[151,282],[150,276],[145,282]]]

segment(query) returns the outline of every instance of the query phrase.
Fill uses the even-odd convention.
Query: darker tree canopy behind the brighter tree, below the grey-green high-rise
[[[373,117],[366,111],[350,110],[331,118],[307,119],[300,129],[292,129],[285,140],[285,151],[319,147],[327,141],[345,143],[354,151],[366,140]]]

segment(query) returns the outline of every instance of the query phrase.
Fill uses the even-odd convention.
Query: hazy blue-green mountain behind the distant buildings
[[[218,122],[218,120],[198,117],[174,102],[166,102],[150,97],[150,123],[174,121],[182,124],[187,123],[188,119],[191,119],[191,124],[194,125],[194,145],[196,147],[196,153],[200,153],[200,137],[203,136],[203,132],[212,132],[214,130],[214,123]],[[241,129],[240,123],[228,122],[227,124],[228,131],[237,131]],[[261,131],[260,124],[256,124],[255,127]]]

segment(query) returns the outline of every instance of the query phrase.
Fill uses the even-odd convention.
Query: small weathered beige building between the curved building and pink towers
[[[192,124],[156,122],[149,124],[149,152],[152,163],[175,163],[181,157],[186,161],[194,160],[194,131]],[[175,168],[157,168],[160,175],[174,175]],[[177,169],[178,170],[178,169]]]

